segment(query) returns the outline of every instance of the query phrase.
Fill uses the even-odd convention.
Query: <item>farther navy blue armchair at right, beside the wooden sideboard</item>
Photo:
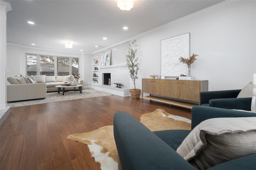
[[[252,98],[236,98],[240,90],[200,92],[200,106],[251,110]]]

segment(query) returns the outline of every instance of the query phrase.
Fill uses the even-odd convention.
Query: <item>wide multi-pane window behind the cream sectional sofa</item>
[[[66,76],[78,74],[79,59],[49,55],[26,54],[27,75]],[[71,66],[70,66],[71,63]]]

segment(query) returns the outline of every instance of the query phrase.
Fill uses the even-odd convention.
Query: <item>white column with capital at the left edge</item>
[[[6,107],[6,14],[11,11],[9,2],[0,0],[0,110]]]

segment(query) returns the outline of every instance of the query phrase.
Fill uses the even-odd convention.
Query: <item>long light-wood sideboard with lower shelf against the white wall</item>
[[[191,109],[198,106],[199,94],[205,91],[208,91],[208,80],[142,78],[142,101],[148,99]]]

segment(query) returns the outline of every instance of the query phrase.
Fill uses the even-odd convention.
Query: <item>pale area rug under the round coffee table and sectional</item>
[[[112,96],[112,94],[101,92],[98,90],[93,90],[90,88],[84,88],[82,90],[82,94],[80,94],[79,91],[76,91],[76,92],[70,91],[70,92],[65,92],[64,96],[63,96],[62,92],[60,92],[59,94],[58,94],[58,92],[49,92],[49,93],[46,93],[45,99],[27,100],[27,101],[21,101],[21,102],[9,102],[9,103],[7,103],[7,106],[19,107],[19,106],[43,104],[43,103],[49,103],[49,102],[59,102],[59,101],[64,101],[64,100],[94,98],[94,97],[101,97],[101,96]]]

